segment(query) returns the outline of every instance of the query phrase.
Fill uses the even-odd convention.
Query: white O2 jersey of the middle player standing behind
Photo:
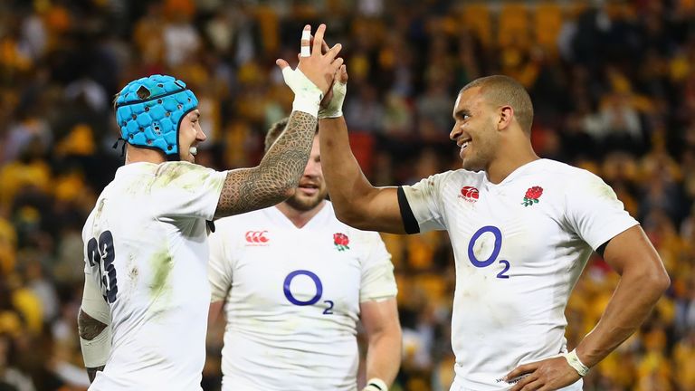
[[[359,303],[395,297],[390,259],[379,234],[340,223],[328,201],[302,228],[274,206],[218,220],[223,389],[356,390]]]

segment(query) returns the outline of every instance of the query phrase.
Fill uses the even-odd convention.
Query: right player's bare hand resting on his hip
[[[580,376],[566,358],[557,357],[516,367],[505,378],[508,382],[519,378],[510,391],[551,391],[575,383]]]

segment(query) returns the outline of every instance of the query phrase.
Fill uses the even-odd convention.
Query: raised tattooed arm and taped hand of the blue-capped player
[[[284,60],[276,63],[295,99],[286,129],[257,167],[231,170],[224,181],[215,217],[237,215],[276,205],[292,195],[309,160],[319,102],[343,63],[336,58],[340,44],[321,53],[326,25],[321,24],[309,54],[311,28],[304,27],[300,64],[292,70]]]

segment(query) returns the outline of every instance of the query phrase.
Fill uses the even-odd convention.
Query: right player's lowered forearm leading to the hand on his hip
[[[596,327],[576,348],[579,359],[594,367],[640,327],[668,287],[661,274],[627,272],[618,283]]]

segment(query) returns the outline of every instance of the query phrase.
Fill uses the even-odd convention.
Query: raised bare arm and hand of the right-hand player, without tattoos
[[[397,188],[372,186],[350,149],[348,125],[341,110],[347,82],[348,72],[342,66],[329,103],[338,107],[326,117],[319,115],[321,167],[336,215],[361,230],[405,234]]]

